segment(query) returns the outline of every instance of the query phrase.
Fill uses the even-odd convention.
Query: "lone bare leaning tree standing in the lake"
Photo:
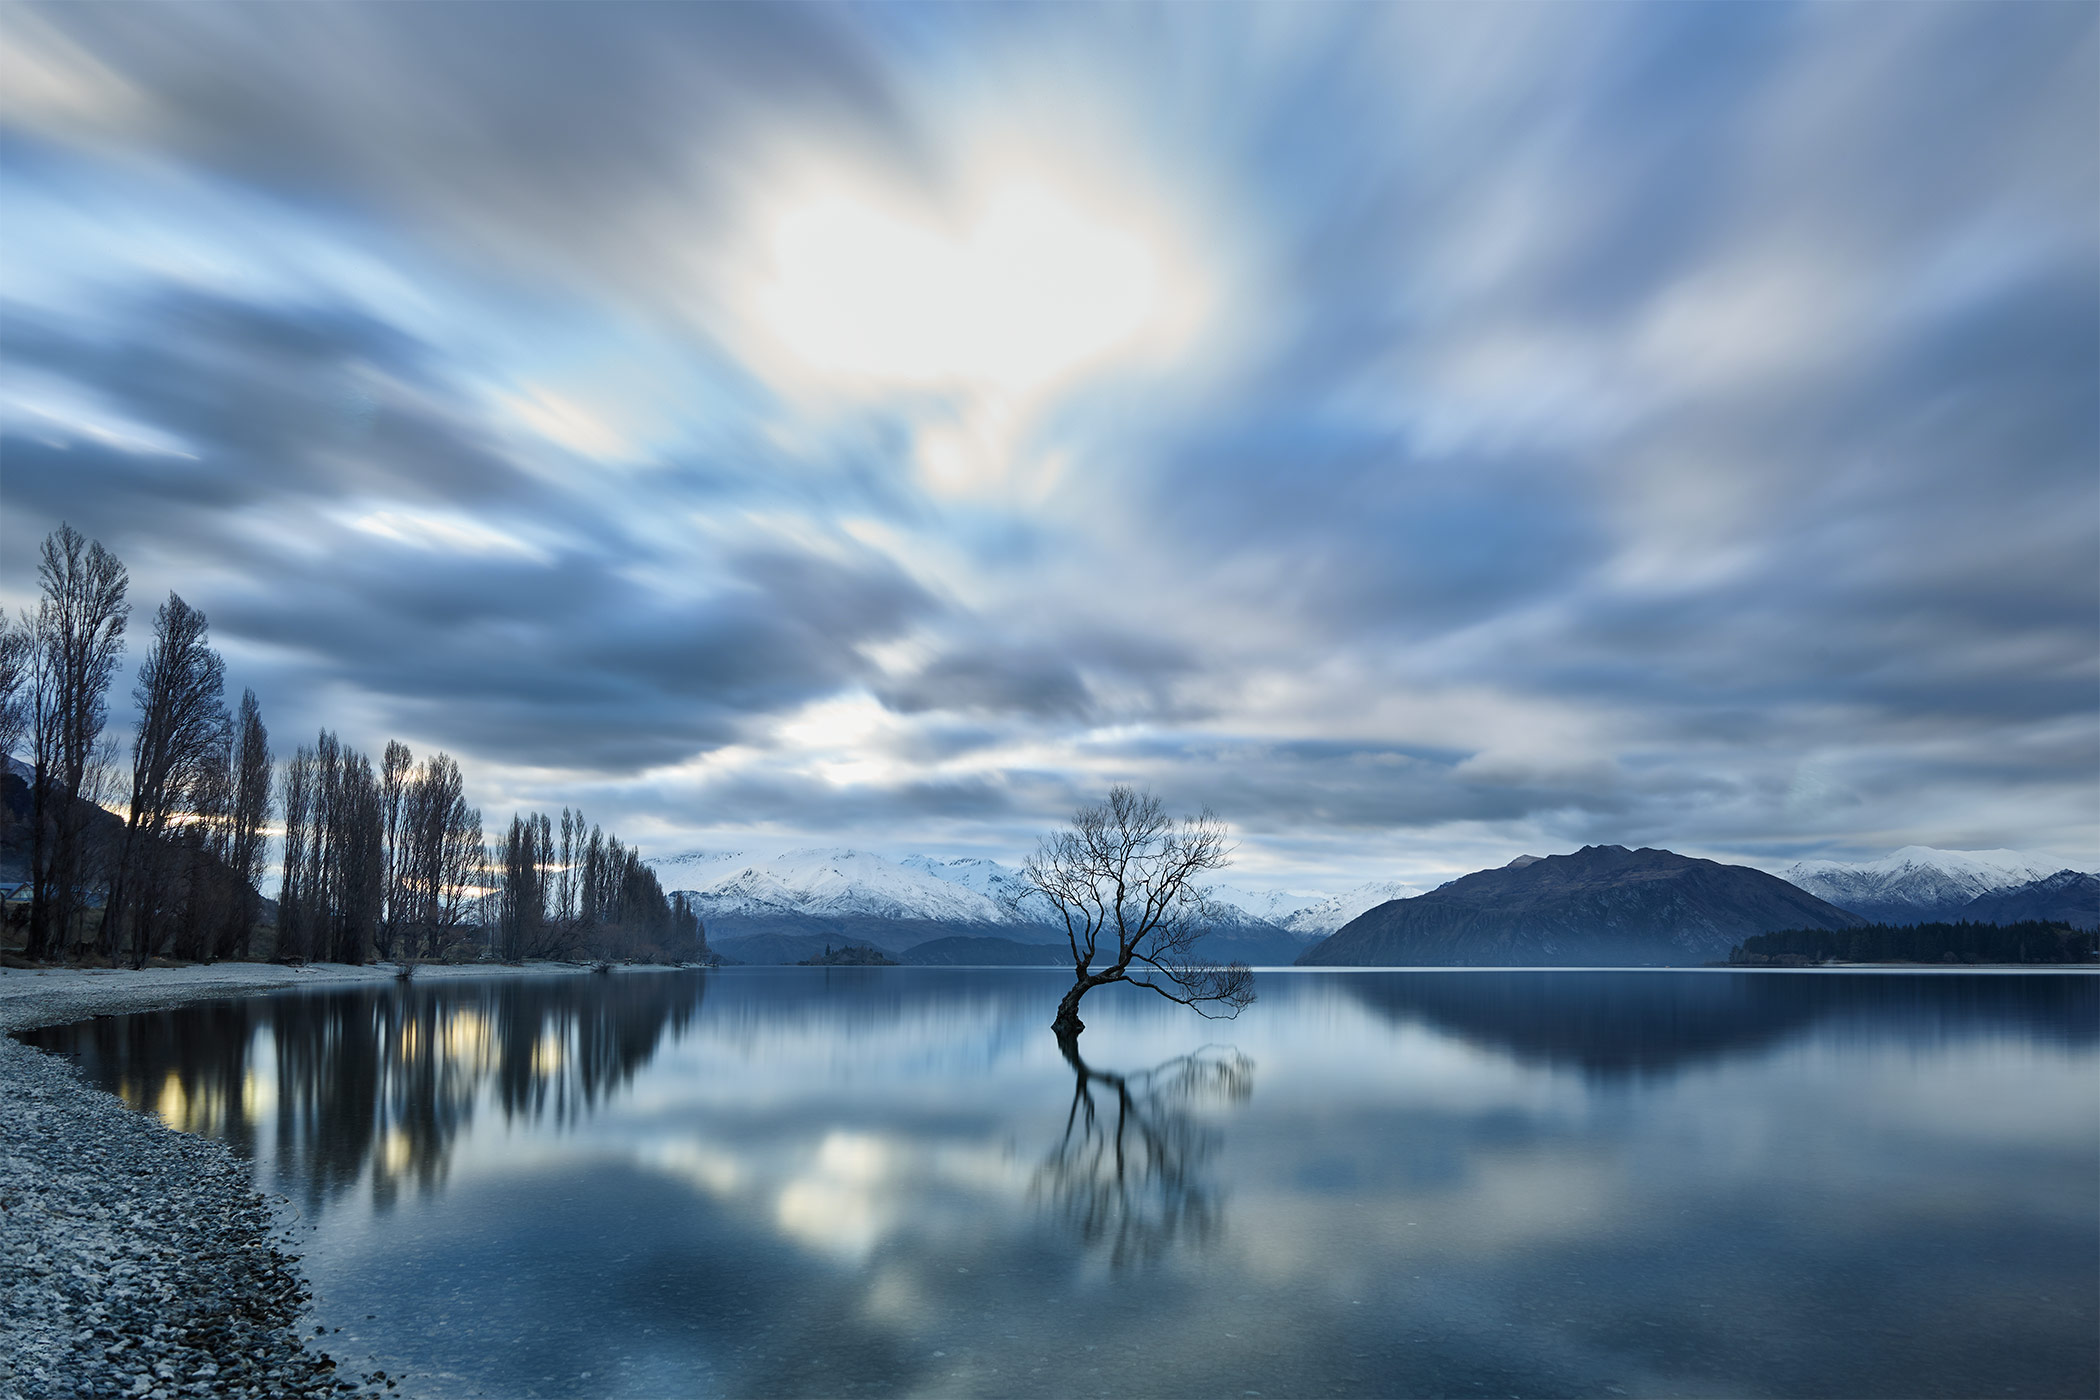
[[[1254,1001],[1245,963],[1193,955],[1216,915],[1199,879],[1231,863],[1224,823],[1214,814],[1174,821],[1159,798],[1109,789],[1071,825],[1044,837],[1021,867],[1021,884],[1044,896],[1071,940],[1073,984],[1050,1028],[1071,1049],[1086,1031],[1079,999],[1109,982],[1147,987],[1214,1018]]]

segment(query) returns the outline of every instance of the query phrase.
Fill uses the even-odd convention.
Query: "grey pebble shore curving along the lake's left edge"
[[[510,974],[575,972],[527,968]],[[248,1163],[82,1083],[13,1031],[388,968],[0,972],[0,1396],[399,1394],[300,1339],[307,1285]],[[418,976],[489,976],[430,968]]]

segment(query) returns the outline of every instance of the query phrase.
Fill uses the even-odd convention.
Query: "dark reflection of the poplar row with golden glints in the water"
[[[307,1209],[372,1169],[380,1205],[445,1178],[483,1098],[573,1121],[697,1014],[704,974],[428,982],[214,1001],[23,1035],[172,1127],[258,1150],[273,1112],[279,1175]]]

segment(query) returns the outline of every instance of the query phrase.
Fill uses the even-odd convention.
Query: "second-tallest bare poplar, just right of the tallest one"
[[[132,940],[132,961],[145,966],[158,936],[153,919],[166,913],[170,882],[178,875],[170,827],[183,800],[200,789],[227,743],[227,663],[210,646],[204,613],[181,594],[153,613],[153,646],[139,663],[132,699],[139,730],[132,737],[130,814],[109,898],[103,905],[103,953],[116,957]]]

